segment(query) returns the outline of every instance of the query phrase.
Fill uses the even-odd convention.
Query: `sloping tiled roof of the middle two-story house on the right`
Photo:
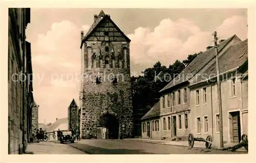
[[[219,45],[219,51],[221,51],[224,46],[230,41],[232,40],[232,38],[234,38],[236,35],[233,35],[232,37],[226,39],[225,41],[221,42]],[[166,90],[169,89],[177,84],[180,84],[182,82],[185,82],[187,80],[189,80],[188,77],[192,77],[194,76],[197,72],[200,71],[200,69],[202,69],[202,67],[204,67],[212,58],[215,57],[215,48],[212,47],[210,49],[208,49],[207,51],[199,54],[190,64],[188,64],[183,71],[172,81],[170,81],[163,89],[160,90]],[[191,75],[189,75],[191,74]]]

